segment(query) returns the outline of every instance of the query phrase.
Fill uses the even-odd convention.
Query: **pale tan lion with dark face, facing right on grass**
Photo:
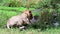
[[[7,28],[10,29],[12,26],[18,26],[19,28],[25,24],[31,24],[30,20],[33,18],[32,12],[30,10],[25,10],[20,15],[11,17],[7,21]]]

